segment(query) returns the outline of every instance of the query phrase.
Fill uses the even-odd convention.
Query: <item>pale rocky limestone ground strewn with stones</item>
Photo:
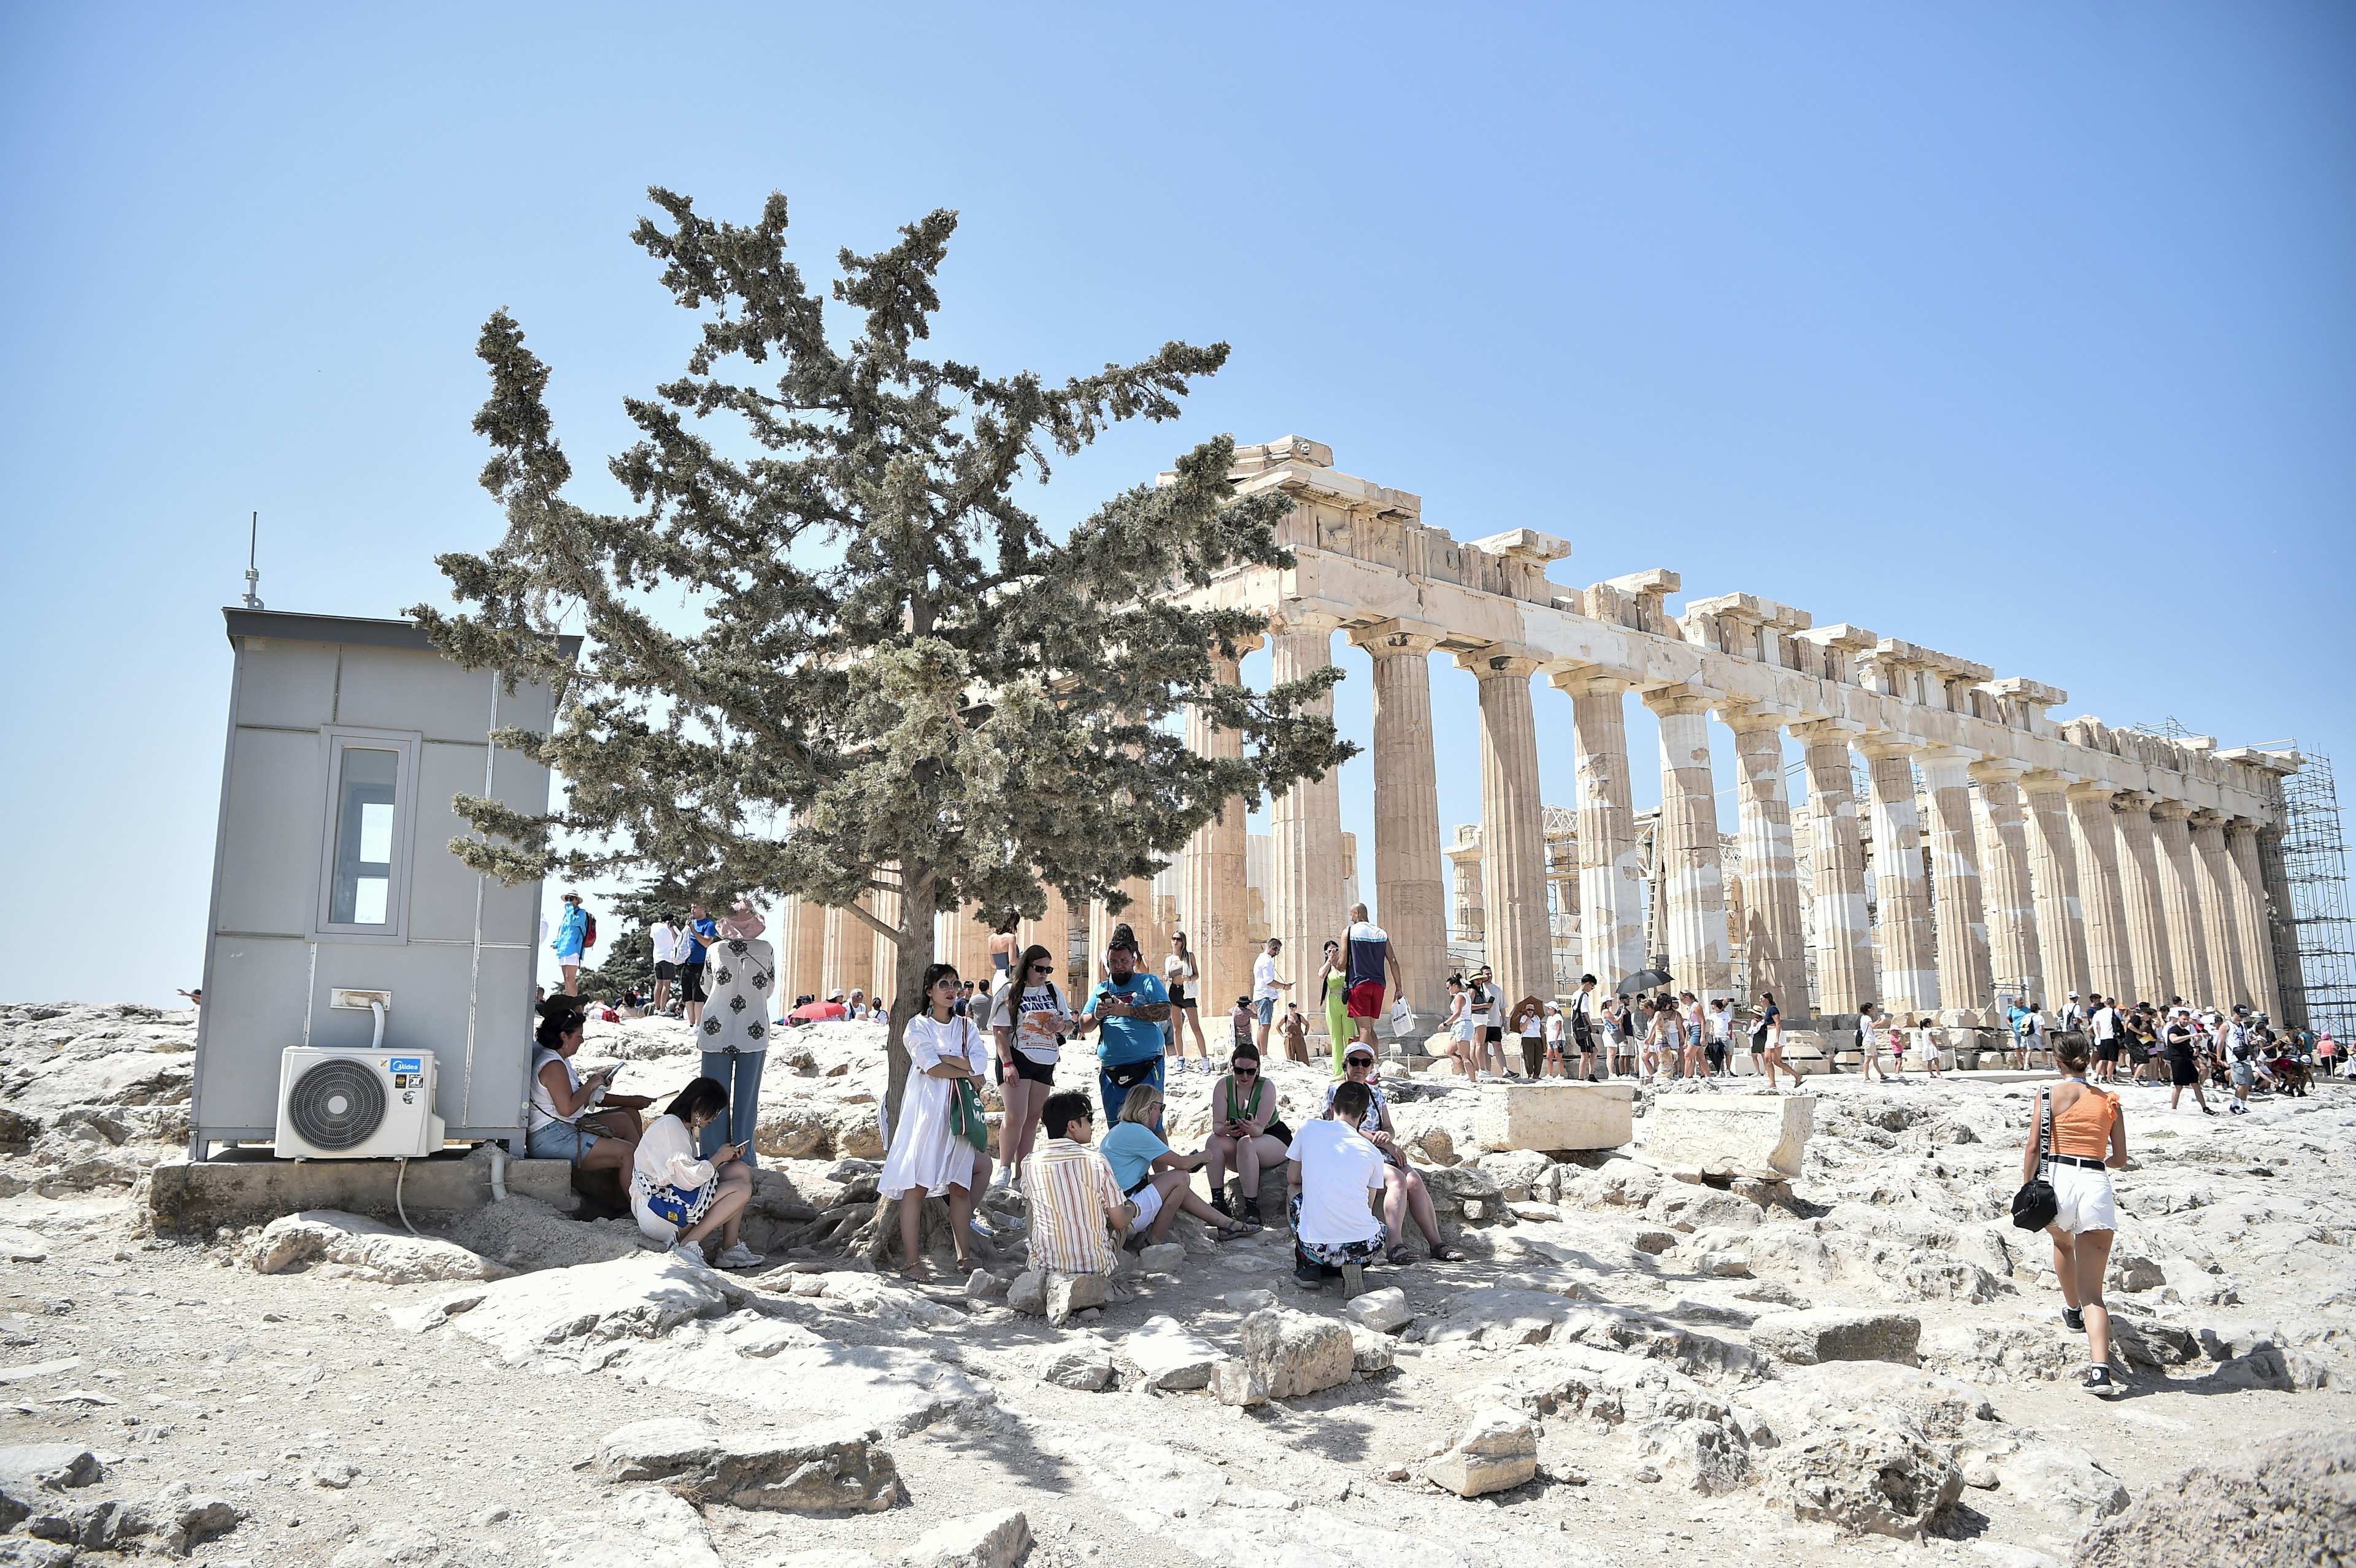
[[[186,1012],[0,1005],[0,1566],[2271,1563],[2349,1533],[2340,1085],[2248,1118],[2125,1090],[2130,1391],[2099,1403],[2005,1220],[2024,1083],[1812,1078],[1802,1177],[1732,1189],[1644,1158],[1649,1111],[1713,1090],[1553,1161],[1480,1154],[1480,1090],[1392,1083],[1472,1262],[1345,1307],[1282,1234],[1183,1224],[1088,1307],[1032,1300],[1018,1203],[971,1293],[862,1260],[872,1024],[773,1052],[747,1276],[528,1198],[424,1241],[151,1236],[191,1043]],[[674,1022],[584,1059],[653,1095],[697,1067]],[[1293,1123],[1322,1104],[1317,1067],[1272,1081]],[[1209,1083],[1171,1085],[1180,1147]]]

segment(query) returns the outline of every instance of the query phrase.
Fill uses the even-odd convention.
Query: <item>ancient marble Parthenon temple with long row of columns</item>
[[[1369,902],[1418,1015],[1440,1010],[1451,963],[1472,956],[1508,998],[1560,996],[1581,972],[1612,989],[1659,961],[1696,996],[1772,991],[1793,1017],[1878,1001],[1991,1026],[2003,996],[2069,991],[2278,1012],[2276,982],[2297,963],[2281,859],[2295,751],[2057,720],[2047,711],[2066,692],[2054,685],[1847,622],[1819,626],[1751,593],[1689,598],[1670,617],[1673,570],[1569,589],[1546,577],[1571,553],[1564,539],[1513,527],[1456,542],[1423,523],[1418,497],[1333,469],[1329,447],[1298,436],[1239,447],[1232,478],[1246,494],[1291,497],[1282,537],[1298,563],[1223,574],[1197,600],[1265,614],[1279,683],[1331,664],[1336,636],[1371,655]],[[1480,683],[1482,815],[1447,838],[1435,650]],[[1239,678],[1235,659],[1220,678]],[[1649,819],[1630,803],[1628,692],[1659,716]],[[1710,716],[1734,732],[1732,833]],[[1576,808],[1546,805],[1538,782],[1538,725],[1564,718]],[[1798,810],[1786,732],[1805,758]],[[1199,716],[1187,739],[1242,749]],[[1265,935],[1284,937],[1286,970],[1308,982],[1355,897],[1336,775],[1270,805],[1265,850],[1246,805],[1202,829],[1152,885],[1129,888],[1136,906],[1121,916],[1150,965],[1169,930],[1190,932],[1211,1012],[1249,991]],[[1055,946],[1063,930],[1077,942],[1081,923],[1084,951],[1100,954],[1103,906],[1051,906],[1023,939]],[[841,911],[794,911],[789,928],[789,984],[888,972]],[[987,975],[980,923],[945,921],[942,935],[949,961]],[[1308,1001],[1310,986],[1293,996]]]

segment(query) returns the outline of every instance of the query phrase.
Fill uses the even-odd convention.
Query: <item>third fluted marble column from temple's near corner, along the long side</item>
[[[1555,994],[1546,928],[1546,808],[1529,676],[1538,662],[1484,647],[1456,657],[1480,678],[1480,841],[1484,951],[1508,1001]]]

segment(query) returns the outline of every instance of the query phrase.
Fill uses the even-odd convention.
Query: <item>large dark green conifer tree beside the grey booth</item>
[[[1119,906],[1124,881],[1237,796],[1352,753],[1305,706],[1336,671],[1223,685],[1211,650],[1232,655],[1260,619],[1173,603],[1230,565],[1291,565],[1275,534],[1289,501],[1232,492],[1232,440],[1060,542],[1015,499],[1105,426],[1173,419],[1225,344],[1171,341],[1063,386],[919,358],[952,212],[879,254],[839,252],[834,320],[855,337],[829,341],[787,259],[782,195],[749,228],[648,195],[669,226],[643,219],[634,240],[702,334],[686,374],[627,400],[641,438],[608,469],[631,511],[565,499],[549,367],[504,311],[483,327],[474,428],[507,537],[438,558],[464,612],[412,614],[459,664],[556,683],[556,732],[502,744],[563,775],[565,800],[525,817],[462,796],[478,836],[450,848],[507,881],[653,873],[712,906],[749,892],[855,911],[898,944],[898,1111],[933,913],[1037,918],[1048,885]],[[584,633],[580,666],[554,652],[558,624]],[[1244,756],[1190,751],[1185,704]],[[898,923],[858,904],[872,890],[900,895]]]

